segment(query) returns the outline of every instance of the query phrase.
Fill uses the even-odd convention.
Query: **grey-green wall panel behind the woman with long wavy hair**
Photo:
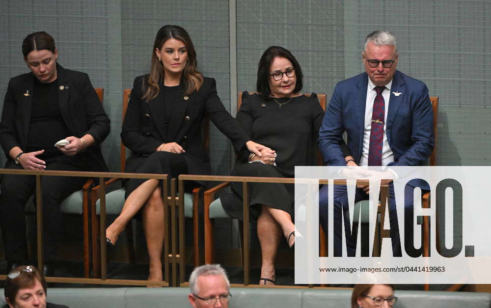
[[[123,86],[131,88],[136,76],[147,74],[155,35],[164,25],[185,28],[197,53],[198,69],[217,80],[225,108],[230,106],[228,0],[121,1]],[[212,172],[230,172],[229,141],[215,128],[211,132]]]

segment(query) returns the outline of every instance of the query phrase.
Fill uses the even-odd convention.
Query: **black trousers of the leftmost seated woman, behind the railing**
[[[22,169],[9,160],[8,169]],[[81,171],[80,160],[62,157],[55,162],[46,162],[47,170]],[[51,261],[56,253],[56,241],[62,234],[61,202],[73,192],[80,190],[85,183],[84,177],[43,176],[43,243],[45,260]],[[3,174],[0,193],[0,227],[5,250],[5,259],[9,262],[27,261],[25,205],[35,193],[34,175]]]

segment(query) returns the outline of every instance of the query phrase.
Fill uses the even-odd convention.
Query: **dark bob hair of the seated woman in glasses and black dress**
[[[259,60],[259,65],[257,68],[257,82],[256,90],[263,97],[269,97],[271,95],[270,89],[270,67],[273,63],[275,57],[282,57],[288,59],[292,62],[293,68],[295,69],[295,76],[297,76],[297,84],[293,93],[298,93],[303,87],[303,73],[300,67],[299,61],[292,55],[292,53],[280,46],[270,46],[263,53],[261,59]]]

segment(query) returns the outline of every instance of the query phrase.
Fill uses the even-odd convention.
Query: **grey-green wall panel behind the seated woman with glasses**
[[[342,1],[237,1],[239,91],[255,91],[257,64],[271,45],[300,62],[302,92],[330,93],[344,79]]]

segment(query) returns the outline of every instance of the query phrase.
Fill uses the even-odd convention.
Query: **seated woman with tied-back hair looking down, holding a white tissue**
[[[56,63],[55,40],[46,32],[27,35],[22,53],[31,72],[9,81],[3,101],[0,142],[5,168],[107,171],[99,145],[109,134],[109,118],[87,74]],[[53,260],[62,234],[60,203],[83,183],[84,177],[43,177],[47,262]],[[24,207],[35,187],[34,176],[1,177],[0,225],[8,270],[28,262]]]

